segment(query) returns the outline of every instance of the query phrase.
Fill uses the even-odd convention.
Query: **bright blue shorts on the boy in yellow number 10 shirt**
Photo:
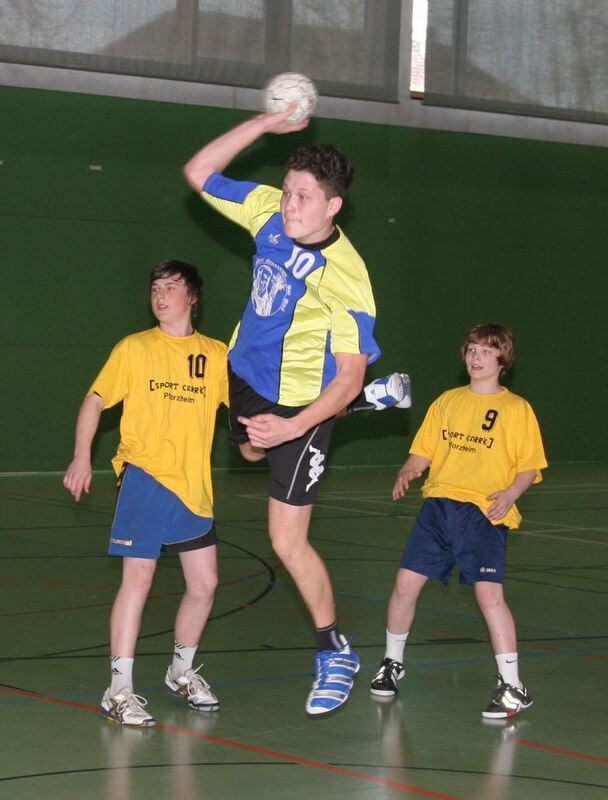
[[[120,478],[108,553],[158,558],[216,543],[212,517],[199,517],[143,469],[127,464]]]

